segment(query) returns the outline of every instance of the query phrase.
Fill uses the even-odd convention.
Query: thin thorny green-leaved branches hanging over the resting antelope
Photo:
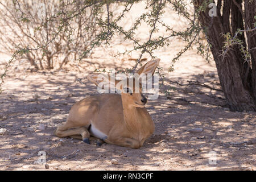
[[[132,49],[127,49],[124,52],[118,52],[117,55],[114,56],[129,54],[133,51],[141,52],[141,55],[139,55],[139,58],[133,68],[119,70],[118,72],[134,73],[135,69],[142,65],[141,59],[144,55],[147,54],[151,57],[151,59],[155,59],[154,52],[161,48],[168,47],[173,38],[179,38],[181,40],[184,40],[184,42],[188,42],[188,44],[170,61],[171,66],[169,68],[169,71],[174,70],[174,65],[176,61],[179,60],[183,53],[192,46],[196,46],[197,51],[200,53],[200,55],[206,57],[207,60],[209,59],[209,46],[207,42],[205,43],[204,40],[201,40],[199,38],[199,34],[201,31],[203,31],[203,28],[199,26],[197,13],[191,14],[187,10],[187,5],[189,5],[188,1],[144,1],[144,3],[146,3],[146,11],[144,13],[141,13],[141,15],[134,20],[134,24],[128,30],[125,30],[119,22],[125,19],[126,13],[129,12],[131,8],[138,2],[141,1],[129,0],[120,2],[114,0],[88,0],[81,2],[76,0],[61,0],[61,8],[57,10],[54,15],[47,17],[43,23],[33,28],[34,32],[36,33],[38,31],[42,31],[44,28],[47,28],[49,22],[56,22],[58,25],[57,31],[52,32],[52,39],[49,39],[48,42],[44,43],[44,45],[36,46],[36,48],[29,49],[27,47],[25,49],[19,49],[19,52],[22,53],[22,51],[25,51],[23,53],[26,53],[26,51],[28,50],[33,51],[35,49],[42,49],[42,56],[44,57],[47,55],[47,47],[49,46],[49,44],[51,44],[62,32],[67,33],[65,34],[65,39],[67,39],[68,42],[75,42],[75,40],[71,38],[71,35],[74,34],[74,28],[72,27],[70,22],[73,19],[76,19],[78,16],[86,14],[86,11],[90,9],[91,13],[94,15],[94,19],[88,22],[88,25],[90,26],[86,27],[86,31],[89,32],[89,34],[93,35],[93,39],[87,46],[87,48],[80,53],[79,61],[81,61],[85,57],[88,57],[90,53],[92,53],[94,48],[100,47],[103,44],[109,45],[115,34],[119,34],[120,36],[122,36],[124,41],[133,42],[134,47]],[[208,2],[211,1],[205,1],[204,6],[200,6],[199,10],[203,11]],[[13,3],[16,7],[16,10],[21,13],[22,22],[29,23],[30,20],[26,18],[26,14],[23,13],[23,9],[19,5],[19,0],[13,0]],[[112,5],[118,5],[118,8],[122,9],[121,14],[115,14],[114,11],[109,8]],[[162,16],[166,12],[167,7],[172,7],[179,16],[183,16],[184,18],[189,20],[188,27],[185,30],[174,31],[170,25],[162,21]],[[136,31],[140,28],[143,22],[146,23],[147,26],[150,28],[148,32],[148,39],[146,41],[142,41],[136,37]],[[98,30],[100,31],[95,32],[94,27],[98,27]],[[154,34],[159,31],[160,27],[163,27],[166,32],[168,32],[167,36],[154,36]],[[96,72],[106,72],[106,70],[103,69],[102,71],[100,71],[97,69]],[[162,78],[163,82],[164,75],[161,72],[162,68],[158,68],[158,73]],[[5,75],[3,75],[2,77],[5,77]]]

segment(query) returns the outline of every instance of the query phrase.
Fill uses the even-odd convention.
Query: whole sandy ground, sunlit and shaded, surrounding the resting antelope
[[[0,170],[256,169],[256,113],[230,112],[222,92],[170,82],[200,81],[220,89],[214,62],[207,63],[195,50],[185,53],[174,72],[167,72],[171,58],[184,46],[179,40],[155,52],[161,59],[166,81],[160,87],[158,100],[149,101],[146,106],[155,122],[155,133],[141,148],[110,144],[98,147],[94,138],[89,145],[55,137],[53,131],[65,121],[71,106],[98,94],[85,76],[96,68],[131,68],[133,61],[111,56],[117,49],[131,46],[117,39],[108,48],[97,48],[79,66],[71,61],[59,72],[31,72],[26,69],[28,64],[23,63],[22,67],[15,63],[0,95],[0,129],[8,130],[0,135]],[[135,52],[133,57],[137,56]],[[7,56],[1,57],[2,69]],[[172,89],[166,96],[164,91],[168,88]],[[46,129],[40,130],[42,125]],[[203,131],[188,132],[196,128]],[[46,152],[49,169],[36,164],[39,151]],[[118,164],[112,164],[112,159]]]

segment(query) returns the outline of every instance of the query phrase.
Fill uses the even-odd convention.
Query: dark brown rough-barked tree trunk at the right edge
[[[195,9],[197,9],[205,0],[193,0]],[[236,0],[238,5],[241,7],[241,0]],[[210,3],[210,1],[209,1]],[[208,3],[208,4],[209,4]],[[250,3],[250,5],[249,5]],[[251,53],[251,63],[245,62],[243,55],[239,50],[238,46],[232,47],[226,56],[221,56],[222,48],[224,46],[225,38],[223,34],[230,32],[234,36],[237,28],[243,27],[243,18],[247,17],[246,20],[254,19],[255,14],[255,1],[245,1],[245,15],[241,14],[238,6],[233,3],[232,0],[225,0],[223,5],[223,12],[221,15],[221,0],[218,0],[217,5],[217,16],[210,17],[208,12],[209,8],[199,13],[199,21],[205,29],[208,42],[210,43],[211,51],[213,54],[214,61],[216,63],[218,77],[220,78],[220,84],[224,91],[225,97],[228,100],[230,110],[232,111],[251,111],[256,110],[256,70],[255,70],[255,32],[247,32],[248,48]],[[231,22],[230,22],[231,14]],[[253,24],[248,22],[249,28],[253,28]],[[247,29],[247,27],[246,27]],[[253,34],[254,33],[254,34]],[[238,38],[245,41],[245,35],[239,35]],[[250,39],[250,40],[249,40]],[[243,46],[246,47],[246,44]]]

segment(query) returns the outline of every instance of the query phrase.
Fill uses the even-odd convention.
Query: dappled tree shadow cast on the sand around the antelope
[[[198,80],[198,77],[201,76],[190,78]],[[98,94],[97,88],[71,73],[60,76],[42,74],[37,79],[38,82],[32,78],[17,80],[18,86],[14,84],[9,92],[1,95],[0,127],[9,133],[0,136],[3,160],[0,169],[15,169],[20,163],[32,165],[39,159],[39,151],[46,152],[47,162],[84,161],[88,170],[113,168],[105,162],[113,158],[119,160],[115,169],[130,165],[133,166],[131,169],[214,167],[230,170],[246,169],[245,164],[255,165],[254,145],[230,144],[255,138],[255,112],[230,112],[223,107],[226,101],[221,92],[197,85],[174,85],[166,80],[175,89],[170,90],[166,97],[164,88],[160,88],[162,93],[158,100],[151,100],[146,106],[155,122],[155,133],[141,148],[134,150],[110,144],[97,147],[95,140],[91,145],[70,138],[60,142],[53,131],[65,121],[75,102]],[[214,77],[204,76],[203,79],[206,83],[216,81]],[[38,130],[40,124],[46,129]],[[31,127],[36,131],[29,131]],[[189,133],[188,129],[192,128],[203,131]],[[210,151],[217,153],[216,165],[209,164]]]

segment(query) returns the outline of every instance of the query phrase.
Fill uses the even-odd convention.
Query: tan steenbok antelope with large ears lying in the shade
[[[138,75],[142,73],[153,75],[159,61],[160,59],[148,61],[138,69]],[[99,73],[93,73],[88,76],[88,80],[98,86],[99,76]],[[110,76],[106,77],[110,80]],[[121,90],[121,95],[100,94],[77,102],[69,111],[64,125],[57,127],[55,135],[60,138],[80,138],[88,144],[90,144],[89,137],[92,135],[109,144],[131,148],[141,147],[144,141],[154,133],[155,126],[144,107],[147,99],[142,94],[142,84],[139,81],[138,77],[126,78],[126,84],[123,86],[118,84],[120,81],[115,80],[115,87]],[[97,142],[97,144],[101,143]]]

